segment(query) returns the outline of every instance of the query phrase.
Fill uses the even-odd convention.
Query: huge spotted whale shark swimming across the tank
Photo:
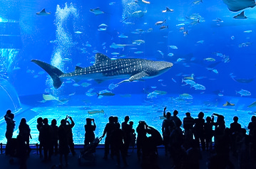
[[[45,70],[53,80],[53,87],[61,87],[63,80],[73,79],[76,82],[80,80],[96,80],[101,83],[105,80],[126,79],[123,82],[132,82],[143,78],[156,77],[163,74],[173,66],[172,62],[144,60],[138,58],[111,60],[102,53],[96,53],[96,61],[89,67],[79,67],[73,72],[64,73],[57,67],[41,60],[31,60]]]

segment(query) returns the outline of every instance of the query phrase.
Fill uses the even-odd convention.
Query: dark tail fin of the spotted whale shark
[[[31,60],[31,62],[36,63],[36,65],[39,65],[43,70],[45,70],[48,75],[51,76],[51,79],[53,80],[53,86],[58,89],[58,87],[61,87],[62,81],[59,78],[61,75],[63,75],[63,72],[59,70],[57,67],[54,67],[53,65],[49,65],[46,62],[42,62],[40,60]]]

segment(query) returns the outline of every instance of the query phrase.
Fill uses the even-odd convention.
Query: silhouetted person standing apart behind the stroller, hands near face
[[[93,122],[93,125],[91,125],[91,122]],[[96,124],[95,124],[94,119],[87,118],[86,125],[84,125],[84,129],[86,131],[85,139],[84,139],[84,146],[86,146],[89,143],[93,143],[93,140],[95,139],[94,131],[96,130]]]

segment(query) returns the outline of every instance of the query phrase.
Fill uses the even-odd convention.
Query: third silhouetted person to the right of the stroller
[[[130,146],[130,133],[131,133],[131,126],[130,124],[128,124],[128,121],[129,121],[130,117],[129,116],[126,116],[125,117],[125,121],[123,121],[122,123],[122,130],[123,130],[123,133],[124,133],[124,153],[125,155],[127,156],[128,155],[128,148]]]

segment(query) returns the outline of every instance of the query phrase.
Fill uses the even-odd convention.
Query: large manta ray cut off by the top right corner
[[[255,0],[223,0],[230,11],[240,11],[242,9],[255,7]]]

